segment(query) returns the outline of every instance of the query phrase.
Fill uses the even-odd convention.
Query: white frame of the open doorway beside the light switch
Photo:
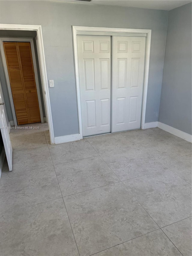
[[[41,75],[41,83],[42,83],[42,92],[45,99],[46,105],[46,119],[49,124],[49,134],[50,134],[50,142],[51,144],[55,143],[54,131],[53,131],[53,123],[52,123],[52,114],[51,114],[51,104],[49,98],[49,87],[47,81],[46,74],[46,65],[45,65],[45,55],[44,55],[44,46],[43,46],[43,36],[41,25],[21,25],[21,24],[0,24],[0,30],[27,30],[27,31],[36,31],[37,32],[37,52],[38,52],[38,62],[39,69]]]

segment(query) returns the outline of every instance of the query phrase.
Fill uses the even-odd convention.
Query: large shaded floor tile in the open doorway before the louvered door
[[[10,140],[13,150],[32,149],[47,145],[44,131],[21,135],[18,135],[17,133],[10,133]]]

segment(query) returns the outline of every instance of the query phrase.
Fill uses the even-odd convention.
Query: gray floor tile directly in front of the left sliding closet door
[[[100,155],[135,148],[133,143],[126,140],[120,133],[90,137],[87,140]]]

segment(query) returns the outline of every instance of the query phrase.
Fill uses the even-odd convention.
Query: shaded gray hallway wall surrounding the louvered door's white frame
[[[0,30],[0,37],[33,38],[37,71],[38,71],[38,81],[39,81],[39,88],[40,88],[40,94],[41,94],[41,102],[42,102],[42,108],[43,108],[43,115],[45,116],[44,100],[43,100],[42,87],[41,87],[41,77],[39,73],[38,55],[37,55],[37,47],[36,47],[36,41],[35,41],[36,35],[37,35],[36,31]],[[4,74],[1,52],[0,52],[0,76],[1,76],[1,86],[2,86],[3,95],[4,95],[5,107],[6,107],[7,116],[8,116],[7,121],[11,121],[13,120],[13,115],[12,115],[12,110],[10,106],[10,100],[9,100],[9,95],[7,90],[7,83],[6,83],[5,74]]]

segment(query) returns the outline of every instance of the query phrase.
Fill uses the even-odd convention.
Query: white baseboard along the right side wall
[[[161,123],[161,122],[158,122],[157,127],[164,130],[164,131],[167,131],[167,132],[169,132],[169,133],[171,133],[171,134],[173,134],[173,135],[175,135],[179,138],[182,138],[183,140],[187,140],[190,143],[192,142],[192,135],[190,135],[190,134],[188,134],[184,131],[180,131],[180,130],[178,130],[178,129],[170,126],[170,125],[166,125],[166,124]]]

